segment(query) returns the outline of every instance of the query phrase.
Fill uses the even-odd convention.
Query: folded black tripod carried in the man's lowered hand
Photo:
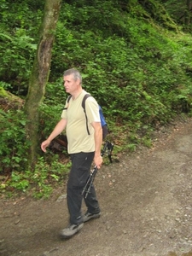
[[[102,154],[101,154],[102,156],[105,154],[107,149],[108,149],[108,158],[109,158],[110,162],[112,163],[111,155],[112,155],[112,150],[113,150],[113,144],[109,143],[109,142],[105,143],[105,145],[102,149]],[[95,166],[94,169],[92,170],[92,172],[90,172],[90,176],[88,177],[86,184],[84,186],[84,189],[82,191],[82,194],[81,194],[81,195],[84,195],[84,198],[87,198],[87,195],[90,193],[90,189],[91,189],[93,181],[96,177],[97,170],[98,170],[98,168],[97,168],[97,166]]]

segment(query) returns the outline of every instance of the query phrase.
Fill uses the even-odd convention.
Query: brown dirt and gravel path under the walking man
[[[49,200],[0,197],[1,256],[191,256],[192,119],[161,128],[153,148],[121,154],[95,184],[101,218],[73,238],[66,186]],[[83,205],[83,210],[85,207]]]

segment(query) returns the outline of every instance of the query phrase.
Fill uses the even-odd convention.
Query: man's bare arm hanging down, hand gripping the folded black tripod
[[[102,125],[100,122],[92,122],[91,125],[95,130],[94,138],[95,138],[95,156],[94,162],[98,169],[102,166],[102,156],[101,156],[101,148],[102,148]]]

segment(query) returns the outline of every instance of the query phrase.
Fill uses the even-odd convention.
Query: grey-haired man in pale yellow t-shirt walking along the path
[[[55,126],[49,137],[41,144],[46,152],[49,143],[61,134],[64,129],[67,133],[67,151],[72,160],[72,167],[67,182],[67,207],[70,215],[69,225],[61,230],[61,237],[69,238],[75,235],[84,226],[84,222],[91,218],[100,217],[100,207],[96,199],[94,186],[90,194],[84,198],[87,212],[82,216],[81,205],[83,200],[82,190],[90,175],[90,166],[94,160],[98,169],[102,166],[102,125],[99,115],[99,106],[93,97],[88,97],[85,102],[86,121],[82,101],[87,94],[82,88],[82,77],[78,70],[72,68],[64,73],[64,87],[72,97],[67,102],[61,113],[61,120]],[[89,133],[86,125],[88,125]]]

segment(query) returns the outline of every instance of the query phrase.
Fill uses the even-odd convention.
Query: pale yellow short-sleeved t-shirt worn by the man
[[[70,101],[66,102],[65,108],[67,109],[64,109],[61,113],[61,118],[67,119],[67,151],[69,154],[95,151],[94,129],[90,123],[101,122],[99,107],[93,97],[86,99],[85,109],[90,131],[89,135],[86,128],[84,108],[81,105],[85,94],[87,92],[83,90],[75,100],[71,97]]]

